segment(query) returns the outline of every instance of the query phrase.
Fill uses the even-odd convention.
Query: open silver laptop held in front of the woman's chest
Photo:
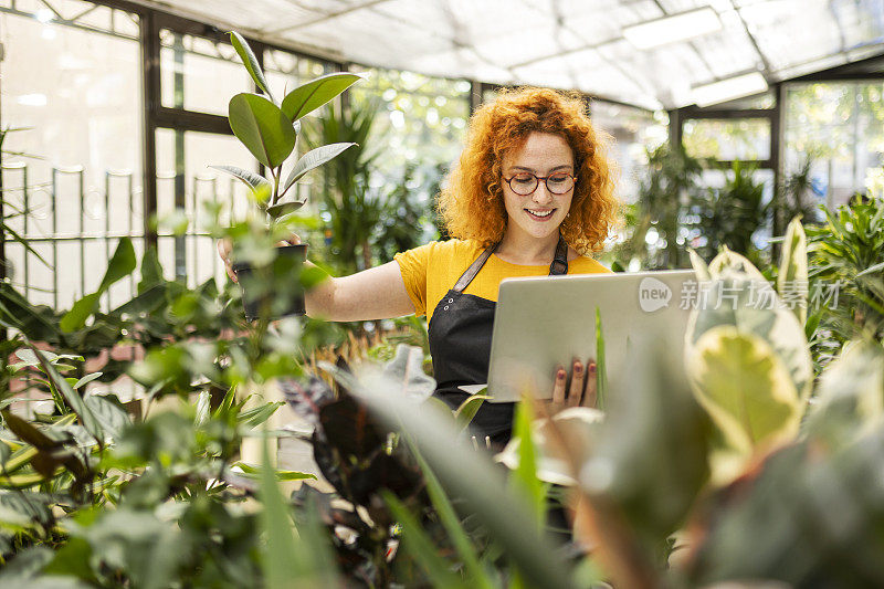
[[[550,398],[557,366],[570,374],[573,358],[598,358],[597,309],[610,392],[622,387],[628,348],[643,338],[662,338],[664,361],[682,371],[697,291],[693,270],[503,281],[488,368],[492,402],[517,401],[523,392]]]

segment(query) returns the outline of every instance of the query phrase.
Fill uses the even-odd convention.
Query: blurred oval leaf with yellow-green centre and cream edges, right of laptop
[[[760,337],[732,326],[714,327],[699,338],[687,371],[697,400],[746,457],[798,433],[798,391]]]

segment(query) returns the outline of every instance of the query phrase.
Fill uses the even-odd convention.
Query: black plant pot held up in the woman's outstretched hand
[[[242,291],[245,318],[253,322],[266,313],[269,319],[287,315],[305,315],[304,287],[299,275],[307,260],[307,245],[285,245],[275,249],[276,256],[266,267],[254,269],[245,262],[234,262],[233,272]],[[282,286],[277,287],[282,283]]]

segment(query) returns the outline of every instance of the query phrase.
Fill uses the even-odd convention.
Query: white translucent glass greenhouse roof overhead
[[[749,72],[774,83],[884,54],[884,0],[165,0],[157,6],[219,27],[234,23],[246,35],[336,61],[575,88],[645,108],[693,104],[694,88]],[[623,34],[625,28],[699,9],[714,11],[717,31],[698,36],[682,31],[686,39],[643,50]]]

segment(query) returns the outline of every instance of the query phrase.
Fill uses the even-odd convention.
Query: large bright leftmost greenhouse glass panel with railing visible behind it
[[[30,211],[10,225],[49,264],[8,243],[7,274],[31,302],[70,308],[96,290],[119,236],[143,234],[141,53],[137,15],[73,0],[54,8],[65,20],[43,3],[0,9],[2,125],[28,127],[3,149],[42,158],[4,155],[4,197]],[[131,287],[115,284],[102,308]]]

